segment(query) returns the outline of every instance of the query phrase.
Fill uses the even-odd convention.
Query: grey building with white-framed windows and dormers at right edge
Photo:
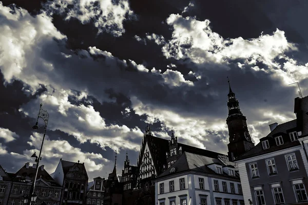
[[[295,99],[296,119],[269,125],[271,132],[236,158],[246,204],[308,204],[308,97]]]

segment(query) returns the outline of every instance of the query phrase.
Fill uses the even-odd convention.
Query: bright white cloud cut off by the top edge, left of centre
[[[112,0],[54,0],[47,2],[45,7],[51,14],[66,15],[67,20],[74,17],[82,24],[92,20],[99,32],[109,32],[114,36],[121,36],[125,32],[123,22],[133,15],[127,0],[119,0],[117,3]]]

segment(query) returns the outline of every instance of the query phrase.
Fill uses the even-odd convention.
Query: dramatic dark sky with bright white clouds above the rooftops
[[[229,76],[256,142],[308,94],[308,2],[0,1],[0,164],[85,163],[106,177],[153,134],[227,153]]]

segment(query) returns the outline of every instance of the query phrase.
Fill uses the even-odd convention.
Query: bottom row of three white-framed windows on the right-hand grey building
[[[293,185],[293,189],[294,189],[294,194],[296,196],[297,202],[307,201],[306,190],[305,190],[303,183]],[[284,203],[284,195],[283,195],[283,190],[281,186],[272,188],[272,195],[273,195],[273,198],[276,204]],[[255,197],[256,197],[257,205],[266,205],[265,198],[264,198],[264,192],[262,188],[255,191]]]

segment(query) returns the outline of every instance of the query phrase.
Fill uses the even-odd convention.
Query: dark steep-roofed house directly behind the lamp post
[[[12,177],[12,187],[8,194],[8,204],[23,204],[25,195],[29,195],[29,190],[36,172],[36,164],[33,166],[27,162]],[[45,202],[48,205],[59,205],[62,187],[44,169],[44,165],[38,168],[35,181],[34,193],[37,195],[36,204]]]

